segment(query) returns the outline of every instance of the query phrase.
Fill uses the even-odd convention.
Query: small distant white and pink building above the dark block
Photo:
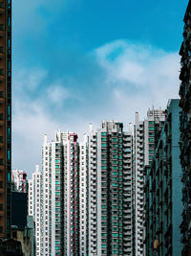
[[[12,191],[27,193],[27,174],[23,170],[11,172]]]

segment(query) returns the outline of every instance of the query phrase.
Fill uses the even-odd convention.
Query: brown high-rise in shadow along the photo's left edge
[[[0,1],[0,238],[11,237],[11,0]]]

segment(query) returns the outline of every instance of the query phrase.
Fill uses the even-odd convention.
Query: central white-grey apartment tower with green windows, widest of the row
[[[132,133],[114,121],[96,131],[91,125],[81,150],[80,232],[87,237],[80,255],[132,255]]]

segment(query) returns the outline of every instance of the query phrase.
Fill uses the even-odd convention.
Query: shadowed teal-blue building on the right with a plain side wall
[[[146,167],[146,254],[181,255],[180,100],[171,100],[152,165]],[[183,254],[187,255],[187,254]]]

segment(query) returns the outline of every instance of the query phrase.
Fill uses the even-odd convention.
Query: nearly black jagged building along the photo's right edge
[[[190,101],[190,68],[191,68],[191,2],[189,1],[184,16],[183,42],[180,47],[180,162],[182,168],[182,255],[191,255],[191,101]]]

